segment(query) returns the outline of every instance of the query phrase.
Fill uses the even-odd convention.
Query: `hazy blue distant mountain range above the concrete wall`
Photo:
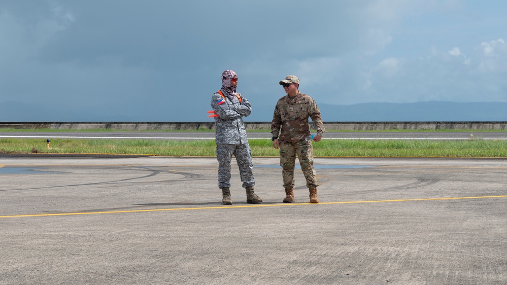
[[[117,110],[114,106],[97,106],[93,110],[58,110],[52,105],[0,103],[0,122],[207,122],[202,108],[135,106]],[[134,109],[137,108],[137,109]],[[208,108],[208,109],[206,109]],[[274,105],[253,105],[246,122],[268,122]],[[200,110],[202,109],[202,110]],[[493,122],[507,121],[507,102],[360,103],[352,105],[319,104],[325,122]],[[139,110],[139,111],[138,111]]]

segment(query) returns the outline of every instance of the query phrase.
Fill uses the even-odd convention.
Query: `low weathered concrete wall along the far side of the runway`
[[[324,122],[326,130],[505,130],[507,122]],[[214,122],[0,122],[0,128],[55,130],[198,130],[215,129]],[[271,122],[245,122],[247,130],[268,130]]]

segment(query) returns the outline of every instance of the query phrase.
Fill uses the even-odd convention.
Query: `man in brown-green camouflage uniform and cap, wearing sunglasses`
[[[314,141],[320,141],[325,132],[320,110],[312,97],[301,93],[299,79],[289,75],[280,81],[286,96],[280,98],[275,107],[275,114],[271,123],[273,147],[280,148],[280,166],[282,166],[283,187],[285,188],[285,203],[294,202],[294,166],[296,155],[305,175],[307,187],[310,190],[310,203],[318,203],[317,173],[313,168],[313,147],[310,137],[308,118],[312,118],[317,135]],[[280,137],[278,136],[280,132]]]

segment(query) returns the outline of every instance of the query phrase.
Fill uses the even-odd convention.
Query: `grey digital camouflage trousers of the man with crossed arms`
[[[254,186],[252,151],[248,142],[243,145],[217,144],[218,188],[230,187],[230,163],[232,155],[240,168],[243,187]]]

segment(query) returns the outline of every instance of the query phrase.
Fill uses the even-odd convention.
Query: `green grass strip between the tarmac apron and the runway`
[[[278,156],[269,139],[250,139],[253,156]],[[349,140],[314,142],[316,157],[507,157],[507,140]],[[2,138],[0,153],[215,156],[215,140]]]

